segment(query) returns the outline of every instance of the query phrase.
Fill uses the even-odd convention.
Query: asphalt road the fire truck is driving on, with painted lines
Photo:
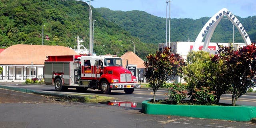
[[[4,85],[4,84],[2,84]],[[24,85],[24,84],[6,84],[6,86],[18,87],[18,88],[26,88],[30,90],[49,92],[49,93],[58,93],[58,94],[79,94],[75,88],[69,88],[66,92],[57,92],[54,86],[38,86],[38,85]],[[149,90],[148,90],[149,89]],[[81,94],[97,94],[102,96],[110,96],[115,97],[117,100],[129,101],[129,102],[142,102],[144,100],[150,100],[153,98],[153,90],[151,88],[148,89],[135,89],[133,94],[125,94],[123,90],[112,90],[111,94],[102,94],[98,90],[88,89],[86,92],[82,92]],[[165,99],[165,93],[167,90],[158,90],[156,93],[156,99]],[[231,94],[224,94],[220,99],[220,103],[232,104]],[[256,93],[251,93],[247,95],[241,96],[236,102],[237,105],[248,105],[248,106],[256,106]]]

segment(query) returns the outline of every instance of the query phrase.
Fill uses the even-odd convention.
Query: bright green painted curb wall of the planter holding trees
[[[171,105],[142,102],[142,112],[152,115],[187,116],[220,120],[250,121],[256,118],[254,106],[206,106],[206,105]]]

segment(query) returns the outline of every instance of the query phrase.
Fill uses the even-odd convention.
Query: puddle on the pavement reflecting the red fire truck
[[[130,109],[141,109],[141,103],[137,103],[137,102],[126,102],[126,101],[112,100],[112,101],[107,101],[107,102],[100,102],[100,104],[108,104],[108,105],[112,105],[112,106],[123,106],[123,107],[127,107]]]

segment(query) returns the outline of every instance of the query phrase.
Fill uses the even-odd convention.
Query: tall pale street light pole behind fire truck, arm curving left
[[[66,0],[65,0],[66,1]],[[78,2],[84,2],[84,1],[82,1],[82,0],[73,0],[73,1],[78,1]],[[84,2],[84,3],[86,3],[86,2]],[[89,6],[89,8],[90,8],[90,10],[89,10],[89,29],[90,29],[90,31],[89,31],[89,33],[90,33],[90,36],[89,36],[89,46],[90,46],[90,50],[89,50],[89,52],[90,52],[90,54],[92,55],[92,52],[93,52],[93,39],[92,39],[92,8],[91,8],[91,6],[89,5],[89,4],[87,4],[86,3],[86,5],[88,5]]]

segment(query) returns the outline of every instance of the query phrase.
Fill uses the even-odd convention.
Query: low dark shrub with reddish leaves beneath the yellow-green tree
[[[201,86],[199,89],[195,88],[190,97],[195,104],[212,104],[214,91],[210,91],[209,87]]]

